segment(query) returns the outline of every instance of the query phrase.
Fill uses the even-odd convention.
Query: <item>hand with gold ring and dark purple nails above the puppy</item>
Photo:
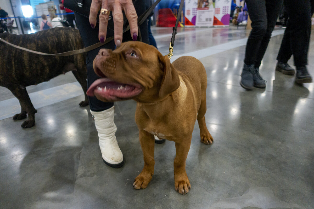
[[[138,25],[137,25],[137,14],[133,6],[132,0],[92,0],[89,12],[89,23],[92,28],[95,28],[96,18],[100,8],[105,9],[104,12],[99,15],[99,34],[98,38],[100,42],[105,42],[107,35],[107,26],[109,20],[109,13],[112,11],[113,23],[114,23],[114,38],[116,46],[120,46],[122,43],[122,32],[123,32],[123,14],[129,21],[130,32],[133,40],[137,39]]]

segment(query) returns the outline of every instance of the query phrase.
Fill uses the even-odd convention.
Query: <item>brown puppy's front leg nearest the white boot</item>
[[[134,189],[145,189],[154,175],[154,135],[144,130],[139,131],[139,142],[141,144],[144,156],[144,168],[135,178]]]

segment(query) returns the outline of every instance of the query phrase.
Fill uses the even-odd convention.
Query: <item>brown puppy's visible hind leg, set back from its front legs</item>
[[[198,109],[198,116],[197,116],[197,121],[198,121],[198,126],[200,130],[200,135],[201,135],[201,142],[204,144],[213,144],[213,137],[210,135],[207,127],[206,127],[206,122],[205,122],[205,113],[206,113],[206,89],[202,89],[202,100],[201,100],[201,105]]]

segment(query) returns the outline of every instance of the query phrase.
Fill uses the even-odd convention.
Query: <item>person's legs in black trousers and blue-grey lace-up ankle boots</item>
[[[244,67],[241,73],[241,86],[265,88],[265,81],[258,72],[271,33],[276,24],[282,0],[246,0],[252,20],[252,31],[247,40]]]

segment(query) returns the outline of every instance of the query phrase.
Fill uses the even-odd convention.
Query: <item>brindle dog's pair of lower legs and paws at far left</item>
[[[19,103],[21,105],[21,113],[14,115],[13,120],[21,120],[26,118],[26,113],[28,114],[28,120],[22,123],[22,128],[31,128],[35,125],[35,110],[32,102],[30,101],[30,97],[26,91],[24,86],[19,87],[11,87],[8,88],[16,98],[18,98]]]

